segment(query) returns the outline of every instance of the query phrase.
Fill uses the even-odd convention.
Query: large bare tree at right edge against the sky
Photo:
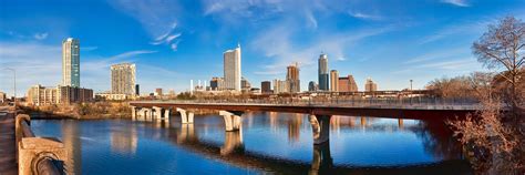
[[[488,25],[488,31],[472,48],[477,61],[486,68],[504,70],[498,76],[509,83],[509,103],[516,112],[521,99],[517,87],[525,63],[525,23],[514,17],[506,17],[496,25]]]

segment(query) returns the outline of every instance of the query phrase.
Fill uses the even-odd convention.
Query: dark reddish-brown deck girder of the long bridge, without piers
[[[475,111],[469,106],[419,106],[419,105],[350,105],[350,104],[258,104],[258,103],[192,103],[176,101],[135,101],[137,107],[182,107],[225,111],[264,111],[305,113],[313,115],[381,116],[394,119],[443,119],[464,116]]]

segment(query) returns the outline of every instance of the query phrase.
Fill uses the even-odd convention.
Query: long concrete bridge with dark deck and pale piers
[[[243,113],[246,111],[285,112],[309,114],[315,144],[322,144],[329,140],[330,117],[332,115],[347,116],[379,116],[393,119],[415,120],[445,120],[455,116],[465,116],[475,111],[477,105],[350,105],[350,104],[267,104],[267,103],[196,103],[185,101],[134,101],[132,119],[137,121],[169,120],[172,113],[179,113],[183,124],[194,122],[194,109],[218,111],[223,115],[226,132],[239,131]]]

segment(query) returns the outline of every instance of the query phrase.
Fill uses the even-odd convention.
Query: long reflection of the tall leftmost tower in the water
[[[80,140],[79,122],[65,120],[62,124],[62,140],[68,152],[65,161],[66,174],[81,174],[82,171],[82,142]]]

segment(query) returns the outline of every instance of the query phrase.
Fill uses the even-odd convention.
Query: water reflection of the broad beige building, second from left
[[[111,132],[111,151],[117,153],[135,154],[138,138],[136,127],[120,127]]]

